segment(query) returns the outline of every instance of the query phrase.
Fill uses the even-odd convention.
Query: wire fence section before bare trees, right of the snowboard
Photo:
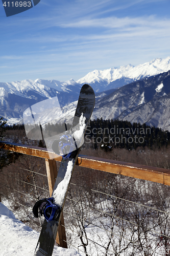
[[[74,214],[71,214],[70,211],[64,210],[64,214],[70,216],[71,218],[74,218],[77,221],[77,223],[79,223],[77,225],[74,225],[74,228],[71,228],[71,227],[68,228],[68,226],[65,227],[66,230],[70,229],[72,233],[76,233],[77,238],[83,238],[86,241],[88,240],[88,242],[84,241],[84,252],[83,253],[85,255],[89,255],[87,252],[88,249],[86,248],[89,246],[89,242],[94,244],[95,248],[98,247],[99,255],[120,255],[120,256],[122,256],[122,255],[162,255],[162,256],[170,255],[169,246],[168,246],[169,241],[170,241],[169,221],[167,221],[167,220],[169,220],[168,209],[167,209],[167,211],[164,211],[164,210],[156,209],[155,207],[143,205],[140,203],[136,203],[134,201],[126,200],[124,198],[120,198],[120,197],[116,197],[116,196],[113,196],[113,195],[110,195],[107,193],[103,193],[102,191],[99,191],[96,189],[87,188],[87,187],[77,185],[74,183],[71,183],[71,185],[84,188],[86,190],[86,192],[87,192],[87,190],[90,190],[95,193],[98,193],[98,195],[105,195],[107,197],[108,196],[112,197],[116,200],[120,200],[120,201],[124,202],[124,204],[125,204],[125,202],[131,203],[132,205],[135,204],[136,206],[138,206],[138,210],[140,210],[141,207],[142,207],[142,209],[147,208],[150,216],[153,214],[153,212],[155,214],[155,216],[154,216],[154,218],[152,218],[152,220],[151,219],[146,220],[146,222],[148,223],[149,226],[144,227],[144,225],[142,226],[143,220],[141,220],[140,223],[130,221],[129,216],[127,215],[127,212],[126,212],[127,218],[121,218],[119,216],[116,216],[117,215],[116,213],[110,214],[110,212],[107,212],[106,205],[105,205],[105,210],[101,210],[97,207],[89,205],[89,203],[87,204],[86,202],[82,202],[81,199],[74,200],[74,199],[67,197],[67,200],[70,201],[71,203],[74,202],[77,205],[81,204],[83,207],[88,207],[88,210],[87,209],[84,210],[85,208],[83,208],[83,207],[81,208],[81,210],[79,208],[80,212],[79,212],[78,208],[75,207],[75,212],[76,211],[79,212],[80,215],[82,216],[82,218],[78,214],[74,215]],[[81,190],[81,192],[82,192],[82,190]],[[88,197],[88,193],[87,193],[87,197]],[[85,200],[85,201],[87,201],[87,200]],[[135,208],[133,208],[133,209],[135,209]],[[83,210],[84,210],[84,212],[83,212]],[[91,210],[93,211],[93,216],[96,214],[96,212],[97,212],[97,214],[96,214],[95,218],[91,218],[91,219],[93,219],[92,221],[91,220],[89,221],[89,220],[87,220],[87,211],[91,211]],[[98,212],[100,213],[100,215],[98,215]],[[144,211],[144,215],[147,216],[148,212]],[[156,213],[158,215],[156,215]],[[133,214],[135,215],[135,212],[133,212]],[[163,214],[164,217],[161,219],[161,222],[160,222],[160,217],[159,217],[159,221],[154,224],[153,219],[155,219],[155,221],[156,221],[156,217],[158,217],[160,214]],[[141,212],[139,213],[139,215],[142,215]],[[103,216],[105,217],[104,221],[102,219]],[[109,220],[110,225],[108,224],[108,221],[107,221],[108,218],[110,219]],[[101,221],[101,219],[102,219],[102,221]],[[118,221],[116,219],[118,219]],[[119,225],[116,227],[117,222]],[[121,225],[121,222],[124,225]],[[152,225],[151,225],[151,222],[152,222]],[[82,226],[80,223],[82,224]],[[127,223],[128,225],[125,223]],[[167,231],[168,236],[167,236],[167,234],[158,231],[161,225],[163,225],[163,227],[164,227],[163,232]],[[167,225],[167,226],[165,226],[165,225]],[[90,226],[90,228],[89,228],[90,232],[85,230],[87,226]],[[93,227],[94,227],[94,229],[93,229]],[[126,229],[124,229],[124,227],[126,227]],[[98,229],[98,231],[96,231],[96,228]],[[120,228],[121,228],[121,230],[120,230]],[[128,229],[131,231],[131,234],[128,234],[128,236],[127,236]],[[138,231],[141,234],[140,239],[138,238],[138,234],[139,234]],[[136,232],[136,236],[135,236],[135,232]],[[106,237],[105,234],[107,234],[107,233],[110,233],[110,237],[108,236],[108,243],[107,243],[107,240],[103,240],[103,238]],[[142,236],[142,233],[145,236],[145,239],[148,240],[148,243],[145,243],[144,236]],[[95,240],[90,239],[91,237],[93,237],[93,238],[95,237]],[[161,238],[161,242],[162,242],[161,244],[159,243],[160,238]],[[155,244],[153,243],[153,239],[155,240],[154,241]],[[117,244],[114,246],[115,241],[117,241]],[[140,244],[141,241],[142,241],[142,244]],[[163,248],[163,241],[166,241],[166,245],[167,245],[164,248]],[[123,245],[121,245],[121,243]],[[117,246],[118,244],[120,245],[120,248],[119,248],[119,252],[116,252],[115,248],[118,247]],[[140,244],[140,246],[139,246],[139,244]],[[108,245],[111,245],[110,247],[112,249],[109,248]],[[83,246],[83,245],[81,245],[81,246]],[[102,247],[103,250],[100,250],[100,247]],[[78,249],[79,249],[79,247],[78,247]],[[103,253],[103,254],[100,254],[100,253]],[[94,254],[95,254],[95,252],[93,251],[92,255],[94,255]],[[98,255],[98,254],[96,254],[96,255]]]

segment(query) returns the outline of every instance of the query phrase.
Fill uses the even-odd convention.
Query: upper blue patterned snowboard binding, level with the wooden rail
[[[76,141],[69,134],[64,134],[59,140],[54,140],[52,150],[57,155],[61,154],[64,159],[67,159],[71,152],[76,150]]]

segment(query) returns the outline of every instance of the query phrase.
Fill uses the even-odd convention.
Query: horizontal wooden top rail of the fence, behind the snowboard
[[[55,161],[61,161],[62,159],[61,156],[58,156],[52,152],[47,152],[46,148],[41,147],[20,145],[15,143],[10,144],[8,142],[0,142],[0,147],[6,150],[37,156],[41,158],[53,158],[55,159]],[[128,177],[170,185],[169,169],[82,155],[79,155],[76,164],[82,167],[102,170],[103,172],[120,174]]]

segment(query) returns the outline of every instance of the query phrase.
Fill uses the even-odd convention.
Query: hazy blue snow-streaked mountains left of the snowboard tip
[[[29,106],[58,96],[62,107],[77,100],[80,89],[81,85],[72,79],[67,82],[37,79],[0,83],[0,116],[6,118],[8,124],[17,123]]]

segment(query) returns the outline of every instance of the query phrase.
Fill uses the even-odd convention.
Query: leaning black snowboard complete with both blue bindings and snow
[[[84,135],[94,103],[95,95],[93,89],[88,84],[84,84],[80,91],[75,117],[70,130],[66,130],[63,135],[53,141],[53,151],[63,157],[52,197],[39,200],[33,207],[35,217],[38,217],[39,214],[43,214],[45,217],[35,249],[36,256],[51,256],[53,253],[70,179],[79,155],[80,146],[84,142]]]

